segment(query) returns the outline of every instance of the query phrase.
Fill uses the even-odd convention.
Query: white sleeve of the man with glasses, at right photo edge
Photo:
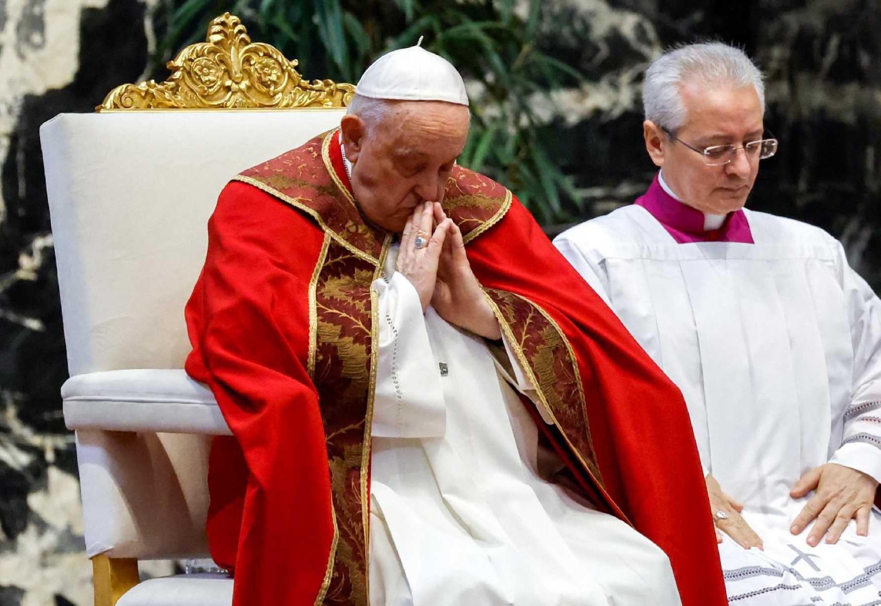
[[[829,461],[881,481],[881,300],[848,266],[841,245],[838,256],[850,321],[854,375],[841,446]]]

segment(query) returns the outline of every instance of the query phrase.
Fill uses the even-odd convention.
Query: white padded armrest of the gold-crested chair
[[[230,435],[217,400],[182,369],[107,370],[61,388],[69,429]]]

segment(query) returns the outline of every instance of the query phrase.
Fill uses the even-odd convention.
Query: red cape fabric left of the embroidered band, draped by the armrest
[[[334,537],[324,427],[307,373],[308,287],[324,235],[239,182],[220,194],[208,233],[186,310],[186,370],[208,383],[234,434],[211,449],[211,556],[233,571],[236,606],[312,604]]]

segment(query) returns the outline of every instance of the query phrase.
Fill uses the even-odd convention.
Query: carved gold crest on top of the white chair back
[[[251,42],[241,19],[225,12],[211,21],[204,42],[168,62],[165,82],[122,84],[95,110],[331,108],[352,101],[352,84],[310,83],[297,64],[276,47]]]

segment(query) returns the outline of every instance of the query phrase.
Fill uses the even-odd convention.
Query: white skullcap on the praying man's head
[[[452,63],[418,44],[393,50],[374,61],[361,76],[355,92],[372,99],[468,105],[465,83]]]

